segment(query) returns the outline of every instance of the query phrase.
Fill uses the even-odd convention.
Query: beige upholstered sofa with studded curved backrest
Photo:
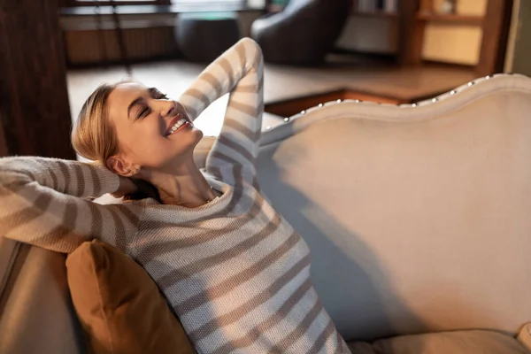
[[[531,79],[326,103],[277,119],[260,149],[261,189],[308,243],[353,353],[448,353],[452,338],[452,353],[531,353]],[[65,256],[0,240],[0,352],[87,351]]]

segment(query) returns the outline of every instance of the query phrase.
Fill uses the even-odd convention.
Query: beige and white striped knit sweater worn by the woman
[[[99,238],[157,282],[199,353],[349,353],[310,281],[309,250],[258,191],[263,60],[243,39],[180,102],[195,119],[230,92],[207,181],[219,198],[196,208],[153,199],[100,205],[119,178],[51,158],[0,159],[0,235],[71,252]]]

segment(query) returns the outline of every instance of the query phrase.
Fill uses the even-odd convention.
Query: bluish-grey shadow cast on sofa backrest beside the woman
[[[274,161],[278,148],[274,144],[263,146],[260,160]],[[304,147],[290,149],[286,156],[289,158],[284,164],[304,159]],[[372,341],[400,334],[389,316],[391,309],[412,328],[412,333],[427,331],[422,321],[396,295],[384,266],[363,238],[342,227],[327,210],[287,183],[279,165],[264,166],[259,179],[262,191],[273,200],[276,210],[290,224],[296,225],[296,230],[308,243],[312,251],[311,273],[315,289],[345,341]],[[289,201],[289,204],[275,203],[278,200]],[[352,257],[345,248],[354,250],[358,257]]]

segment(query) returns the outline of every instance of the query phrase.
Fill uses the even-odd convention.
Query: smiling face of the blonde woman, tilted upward
[[[120,83],[108,98],[109,117],[118,135],[120,156],[127,164],[164,168],[191,158],[203,137],[184,107],[158,89]]]

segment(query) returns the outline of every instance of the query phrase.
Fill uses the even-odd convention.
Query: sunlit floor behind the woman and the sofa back
[[[204,65],[181,61],[141,64],[134,66],[133,80],[155,86],[168,96],[178,97],[203,69]],[[266,65],[264,96],[267,104],[335,89],[352,89],[414,102],[475,78],[471,69],[441,65],[412,68],[367,64],[335,64],[322,68]],[[99,84],[123,79],[127,79],[127,73],[121,66],[69,71],[67,82],[73,119]],[[226,105],[227,96],[212,104],[196,120],[196,127],[205,135],[218,135]]]

